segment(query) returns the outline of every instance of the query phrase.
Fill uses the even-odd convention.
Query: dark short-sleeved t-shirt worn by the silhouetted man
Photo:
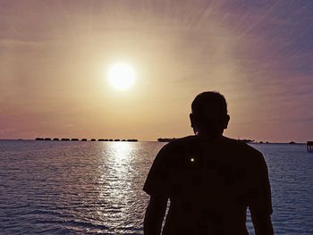
[[[173,140],[157,154],[143,189],[170,199],[163,234],[248,234],[248,207],[272,214],[263,155],[231,138]]]

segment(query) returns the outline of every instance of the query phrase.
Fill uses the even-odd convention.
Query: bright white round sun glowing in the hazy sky
[[[107,80],[117,90],[126,90],[135,83],[135,71],[128,63],[115,63],[107,71]]]

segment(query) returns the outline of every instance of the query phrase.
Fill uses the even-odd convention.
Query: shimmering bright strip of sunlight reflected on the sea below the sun
[[[98,215],[114,227],[122,228],[123,222],[129,221],[132,198],[132,178],[136,174],[131,165],[136,155],[136,144],[113,142],[104,147],[102,158],[105,167],[99,178],[99,200],[107,205],[105,211],[99,210]],[[106,170],[105,170],[106,169]]]

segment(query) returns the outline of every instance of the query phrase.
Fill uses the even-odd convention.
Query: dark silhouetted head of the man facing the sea
[[[209,136],[222,135],[227,129],[229,115],[226,100],[218,92],[200,93],[191,104],[190,122],[195,133]]]

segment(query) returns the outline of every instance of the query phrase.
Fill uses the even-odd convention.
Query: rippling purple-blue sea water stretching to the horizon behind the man
[[[0,141],[0,234],[142,234],[158,142]],[[252,144],[266,158],[275,234],[313,234],[313,153]],[[254,234],[250,217],[247,226]]]

